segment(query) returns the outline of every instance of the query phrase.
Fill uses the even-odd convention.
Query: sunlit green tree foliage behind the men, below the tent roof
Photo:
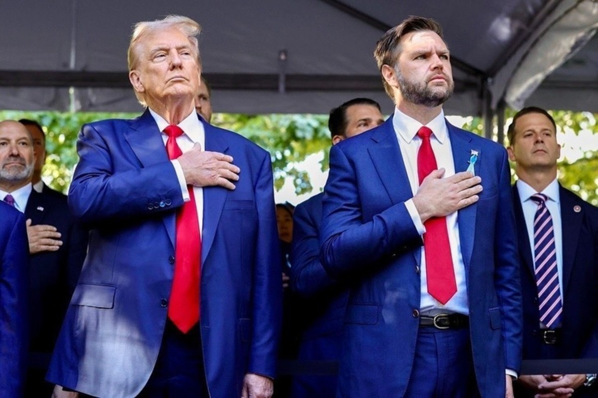
[[[514,111],[508,110],[505,120],[511,123]],[[572,148],[572,137],[580,131],[596,136],[598,114],[590,112],[551,112],[557,123],[560,143],[564,153],[576,153],[578,157],[565,156],[559,162],[559,178],[567,188],[577,192],[582,198],[598,204],[598,145],[588,149],[587,143],[576,143]],[[77,164],[75,142],[81,125],[106,118],[133,118],[136,114],[108,113],[62,113],[62,112],[0,112],[0,120],[28,118],[37,120],[44,126],[47,136],[48,157],[44,167],[44,180],[65,192],[68,189],[72,170]],[[295,192],[303,194],[312,191],[309,174],[297,166],[307,156],[323,153],[322,170],[328,168],[328,148],[330,136],[328,115],[240,115],[215,114],[212,122],[220,127],[237,131],[258,145],[270,151],[274,186],[279,190],[288,176],[292,177]],[[482,134],[483,120],[468,118],[463,128]],[[505,126],[506,131],[506,126]],[[495,131],[496,135],[496,131]],[[563,138],[564,137],[564,138]],[[592,137],[593,138],[593,137]],[[496,137],[495,137],[496,139]],[[596,137],[597,140],[598,137]],[[569,140],[569,141],[568,141]],[[576,142],[578,142],[577,140]]]

